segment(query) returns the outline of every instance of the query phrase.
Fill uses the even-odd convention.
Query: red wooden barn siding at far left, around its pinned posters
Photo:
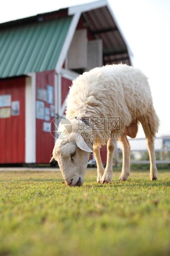
[[[0,118],[0,164],[24,163],[25,78],[0,81],[0,95],[11,95],[11,102],[17,100],[20,104],[19,115]]]

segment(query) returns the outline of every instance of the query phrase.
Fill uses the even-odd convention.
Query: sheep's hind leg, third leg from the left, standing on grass
[[[122,173],[120,175],[119,181],[122,181],[122,180],[127,180],[130,174],[131,147],[129,144],[129,140],[127,139],[124,133],[120,137],[120,142],[122,144],[123,165],[122,165]]]

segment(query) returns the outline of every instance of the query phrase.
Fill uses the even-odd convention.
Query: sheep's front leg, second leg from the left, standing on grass
[[[101,183],[109,183],[112,180],[112,177],[113,177],[113,170],[112,170],[113,154],[115,151],[116,143],[117,143],[116,139],[110,139],[107,143],[107,150],[108,150],[107,163],[106,163],[106,169],[103,174]]]

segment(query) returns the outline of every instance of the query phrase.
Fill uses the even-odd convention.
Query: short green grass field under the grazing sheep
[[[169,256],[170,171],[82,187],[60,172],[0,172],[0,256]]]

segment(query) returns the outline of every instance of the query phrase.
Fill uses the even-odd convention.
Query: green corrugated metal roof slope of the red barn
[[[53,70],[73,16],[0,30],[0,78]]]

